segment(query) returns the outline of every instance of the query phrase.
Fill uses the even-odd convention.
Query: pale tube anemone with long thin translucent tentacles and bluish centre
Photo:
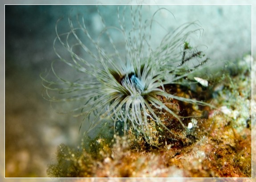
[[[156,16],[161,12],[173,16],[171,12],[160,8],[147,18],[142,16],[143,6],[117,7],[113,20],[118,25],[108,26],[100,8],[102,6],[97,7],[98,17],[103,30],[98,37],[89,33],[84,16],[77,16],[76,21],[69,17],[70,31],[67,33],[59,32],[60,20],[57,22],[54,51],[59,60],[52,63],[51,69],[57,79],[53,81],[49,75],[41,76],[44,97],[52,102],[74,102],[69,111],[81,111],[79,115],[85,117],[88,131],[103,120],[113,121],[114,126],[122,122],[124,131],[132,128],[141,133],[146,142],[152,143],[150,122],[155,122],[176,136],[163,123],[156,109],[174,116],[173,122],[184,129],[186,126],[179,113],[167,107],[160,97],[211,106],[167,93],[164,89],[167,84],[183,84],[181,79],[207,61],[201,51],[188,44],[190,35],[201,34],[203,30],[193,22],[170,31],[156,20]],[[128,19],[127,13],[130,14]],[[158,46],[153,43],[155,26],[165,32]],[[191,29],[193,27],[195,29]],[[56,66],[57,63],[65,63],[68,69]]]

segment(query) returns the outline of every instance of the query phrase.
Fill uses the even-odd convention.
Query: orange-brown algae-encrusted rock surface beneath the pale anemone
[[[237,63],[244,64],[245,59],[251,59],[250,55]],[[191,133],[190,142],[163,142],[158,148],[147,145],[132,132],[111,139],[109,128],[102,127],[96,138],[81,142],[79,151],[64,144],[58,146],[57,163],[49,166],[49,176],[251,177],[250,69],[246,65],[238,70],[230,68],[231,75],[223,73],[217,79],[221,81],[211,82],[212,102],[219,109],[208,108],[203,120],[191,119],[197,130]]]

